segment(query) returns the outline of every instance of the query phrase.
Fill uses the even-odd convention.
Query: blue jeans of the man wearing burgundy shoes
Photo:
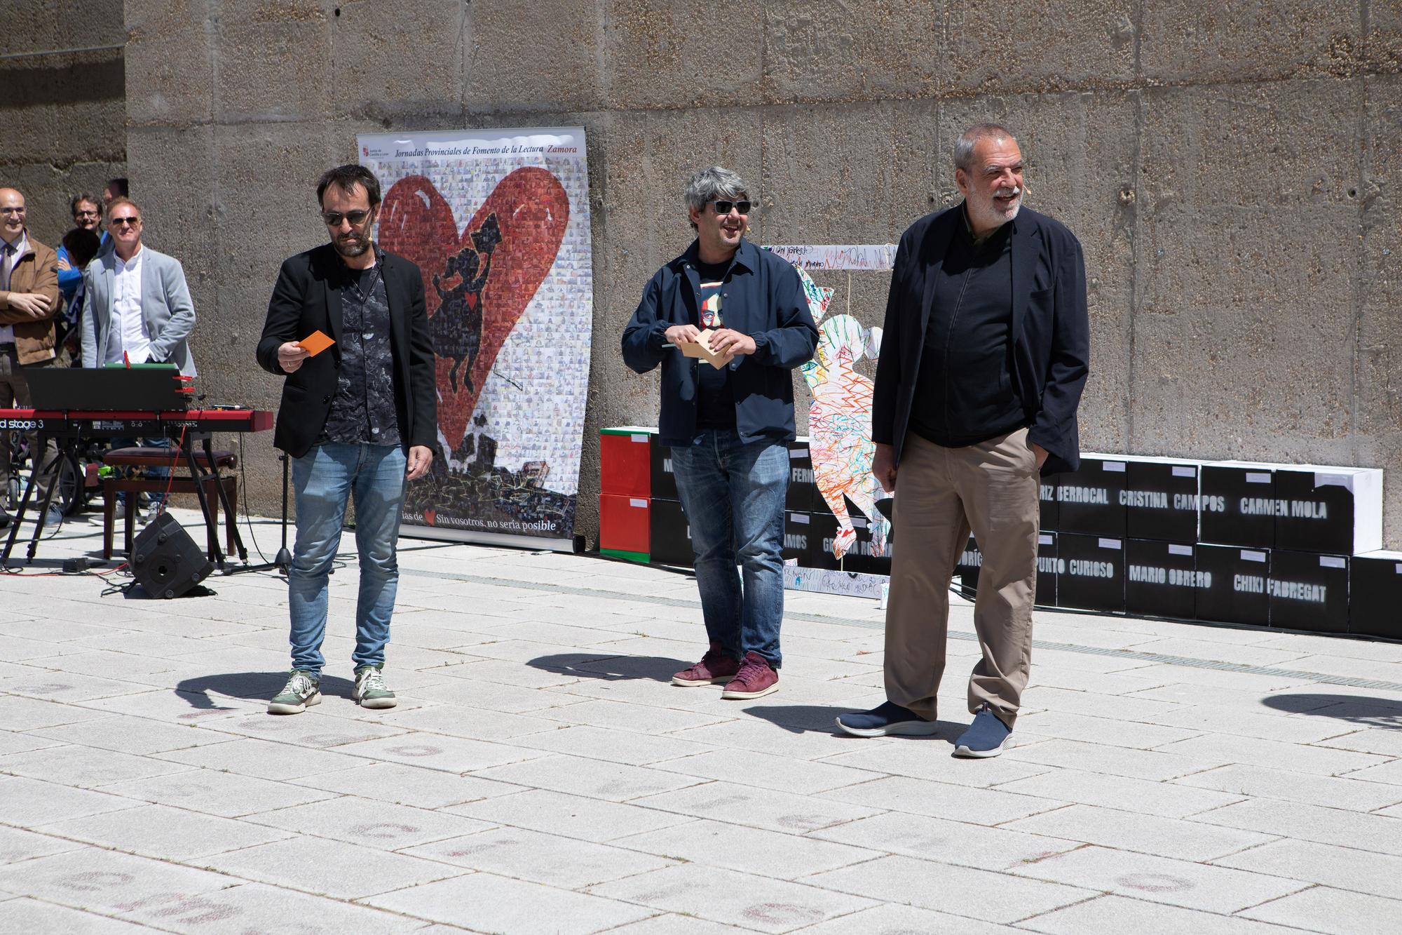
[[[691,526],[707,636],[728,656],[753,650],[778,668],[788,445],[746,445],[733,428],[702,430],[672,448],[672,468]]]

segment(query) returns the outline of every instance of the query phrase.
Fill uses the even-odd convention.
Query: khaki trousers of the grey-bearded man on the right
[[[983,553],[973,623],[983,657],[969,679],[969,710],[987,703],[1012,727],[1032,665],[1036,595],[1036,455],[1028,430],[942,448],[906,437],[896,472],[886,698],[935,720],[949,632],[949,580],[973,531]]]

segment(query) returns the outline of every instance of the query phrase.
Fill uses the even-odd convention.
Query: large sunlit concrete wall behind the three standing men
[[[583,125],[594,244],[580,531],[597,428],[652,423],[618,359],[690,240],[684,174],[753,180],[757,241],[889,243],[953,204],[970,122],[1015,129],[1029,205],[1085,246],[1087,448],[1388,469],[1402,548],[1402,13],[1196,0],[126,0],[126,153],[186,265],[212,399],[275,406],[252,347],[313,183],[384,129]],[[880,274],[837,310],[879,323]],[[803,396],[799,380],[799,396]],[[255,508],[276,510],[266,438]]]

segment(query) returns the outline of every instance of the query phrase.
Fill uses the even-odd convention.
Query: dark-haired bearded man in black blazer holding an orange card
[[[282,264],[258,341],[258,364],[285,376],[273,444],[293,458],[297,542],[287,571],[292,672],[268,713],[296,715],[321,701],[327,576],[355,497],[360,555],[355,689],[365,708],[394,708],[384,647],[400,567],[395,543],[408,480],[437,448],[433,344],[419,268],[370,239],[380,181],[362,166],[328,170],[317,184],[331,241]],[[335,344],[311,354],[313,333]]]

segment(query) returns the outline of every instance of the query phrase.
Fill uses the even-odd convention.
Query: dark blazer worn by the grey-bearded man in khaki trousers
[[[920,352],[935,279],[963,204],[925,215],[896,248],[886,327],[876,362],[872,441],[892,445],[900,463],[920,376]],[[1081,442],[1075,410],[1091,369],[1085,258],[1060,222],[1022,208],[1012,225],[1012,385],[1028,417],[1028,441],[1047,449],[1043,475],[1075,470]],[[956,375],[958,378],[958,375]]]

